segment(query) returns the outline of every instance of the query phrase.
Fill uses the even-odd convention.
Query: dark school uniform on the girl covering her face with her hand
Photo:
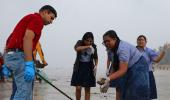
[[[79,40],[75,48],[82,45],[82,41]],[[77,52],[77,58],[74,64],[73,74],[71,78],[71,86],[82,86],[82,87],[95,87],[96,78],[93,72],[94,59],[97,57],[97,49],[95,49],[94,54],[90,48]]]

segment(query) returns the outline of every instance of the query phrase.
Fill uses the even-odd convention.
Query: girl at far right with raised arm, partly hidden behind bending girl
[[[155,83],[155,78],[153,74],[153,63],[158,63],[165,55],[165,49],[167,46],[164,46],[164,49],[157,53],[154,50],[146,47],[147,39],[144,35],[139,35],[137,38],[137,49],[143,53],[143,56],[146,58],[149,65],[149,82],[150,82],[150,99],[157,99],[157,88]]]

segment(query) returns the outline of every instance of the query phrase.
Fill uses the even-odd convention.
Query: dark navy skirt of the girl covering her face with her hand
[[[71,86],[96,86],[96,78],[93,73],[93,63],[79,62],[77,70],[73,70]]]

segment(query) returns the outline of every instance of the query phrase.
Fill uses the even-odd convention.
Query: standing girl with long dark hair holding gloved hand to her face
[[[97,48],[91,32],[86,32],[75,45],[77,58],[74,64],[71,86],[76,87],[76,100],[81,99],[81,89],[85,88],[85,100],[90,100],[90,87],[96,86],[98,64]]]

